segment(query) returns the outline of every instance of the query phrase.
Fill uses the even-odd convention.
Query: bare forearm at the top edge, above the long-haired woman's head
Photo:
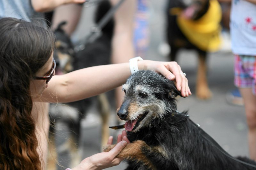
[[[31,4],[36,12],[49,12],[64,4],[81,4],[86,0],[31,0]]]

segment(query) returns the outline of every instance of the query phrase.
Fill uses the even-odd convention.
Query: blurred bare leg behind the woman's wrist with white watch
[[[116,5],[119,0],[110,0]],[[126,0],[115,12],[114,35],[112,38],[111,63],[124,63],[135,57],[133,46],[133,21],[137,9],[137,0]],[[116,108],[121,106],[123,100],[122,87],[116,88]]]

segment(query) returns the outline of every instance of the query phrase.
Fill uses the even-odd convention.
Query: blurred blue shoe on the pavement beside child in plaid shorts
[[[242,98],[238,89],[232,90],[226,94],[228,104],[236,106],[244,106],[244,99]]]

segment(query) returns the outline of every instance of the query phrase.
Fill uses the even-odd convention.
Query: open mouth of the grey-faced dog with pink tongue
[[[125,130],[127,130],[127,131],[135,130],[139,126],[139,123],[146,117],[147,114],[148,114],[148,111],[144,112],[141,115],[139,115],[135,120],[132,120],[132,121],[128,120],[128,121],[126,121],[124,125],[111,126],[109,128],[112,128],[112,129],[122,129],[122,128],[125,128]]]

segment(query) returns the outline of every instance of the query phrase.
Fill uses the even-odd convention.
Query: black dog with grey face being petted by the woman
[[[234,158],[188,118],[176,111],[181,95],[174,83],[156,72],[138,71],[123,85],[125,97],[117,115],[132,142],[117,155],[129,170],[243,170],[255,169],[247,158]],[[114,145],[107,145],[109,151]],[[244,160],[253,165],[248,166]]]

